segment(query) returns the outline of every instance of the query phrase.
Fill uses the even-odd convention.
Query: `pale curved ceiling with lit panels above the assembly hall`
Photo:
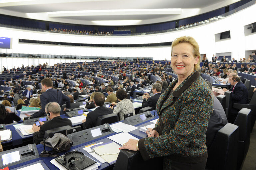
[[[141,25],[195,16],[237,1],[0,0],[0,14],[83,25]]]

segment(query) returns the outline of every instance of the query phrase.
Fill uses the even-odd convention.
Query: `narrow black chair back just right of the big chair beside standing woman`
[[[251,136],[251,110],[243,108],[239,111],[234,125],[239,127],[237,169],[241,169],[249,149]]]

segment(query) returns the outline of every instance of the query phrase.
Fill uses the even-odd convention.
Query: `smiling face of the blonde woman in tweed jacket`
[[[190,43],[182,42],[172,48],[171,67],[178,77],[186,78],[191,74],[198,59],[198,56],[194,57]]]

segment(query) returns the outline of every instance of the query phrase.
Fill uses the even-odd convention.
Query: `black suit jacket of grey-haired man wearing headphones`
[[[40,127],[40,130],[36,131],[33,134],[33,142],[35,144],[40,144],[40,142],[42,140],[44,140],[44,135],[45,135],[46,130],[50,130],[53,128],[59,128],[59,127],[63,127],[63,126],[72,127],[72,123],[69,119],[67,119],[67,118],[62,119],[60,116],[53,118],[51,121],[46,122],[44,125],[42,125]]]

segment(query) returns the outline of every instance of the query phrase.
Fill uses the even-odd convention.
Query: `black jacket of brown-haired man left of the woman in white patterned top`
[[[105,108],[104,106],[100,106],[92,112],[89,112],[86,117],[85,123],[82,124],[83,129],[93,128],[96,125],[97,118],[99,116],[108,115],[113,113],[111,108]]]

